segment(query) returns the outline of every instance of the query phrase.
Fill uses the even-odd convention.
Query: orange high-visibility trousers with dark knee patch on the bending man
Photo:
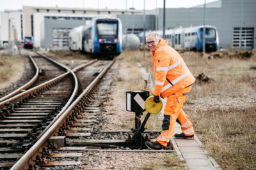
[[[166,146],[170,138],[172,138],[177,118],[179,119],[181,130],[186,136],[194,134],[193,124],[182,110],[182,106],[191,87],[186,87],[167,97],[162,124],[163,131],[156,139],[163,146]]]

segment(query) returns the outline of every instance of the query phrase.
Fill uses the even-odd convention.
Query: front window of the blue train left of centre
[[[100,38],[116,38],[117,23],[97,23]]]

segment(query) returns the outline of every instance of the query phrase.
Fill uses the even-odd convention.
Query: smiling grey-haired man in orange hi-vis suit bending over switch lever
[[[159,34],[148,34],[146,41],[154,64],[154,101],[159,103],[161,96],[167,97],[167,103],[164,108],[163,131],[156,142],[147,141],[145,145],[150,149],[161,150],[166,148],[172,138],[176,121],[180,124],[182,133],[175,134],[175,138],[194,138],[193,125],[182,106],[195,78],[179,53],[168,46],[168,41],[160,38]]]

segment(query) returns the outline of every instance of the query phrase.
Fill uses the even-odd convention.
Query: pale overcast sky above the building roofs
[[[44,6],[44,7],[65,7],[65,8],[108,8],[125,9],[126,0],[0,0],[0,11],[18,10],[22,6]],[[217,0],[206,0],[210,3]],[[99,3],[98,3],[99,2]],[[127,0],[127,8],[143,10],[144,0]],[[146,10],[163,8],[163,0],[145,0]],[[166,0],[166,8],[189,8],[204,4],[204,0]]]

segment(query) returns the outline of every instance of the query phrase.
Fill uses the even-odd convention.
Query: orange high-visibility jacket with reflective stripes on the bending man
[[[162,94],[163,98],[167,97],[195,82],[184,60],[176,50],[168,46],[168,41],[161,39],[151,54],[155,74],[154,96]]]

